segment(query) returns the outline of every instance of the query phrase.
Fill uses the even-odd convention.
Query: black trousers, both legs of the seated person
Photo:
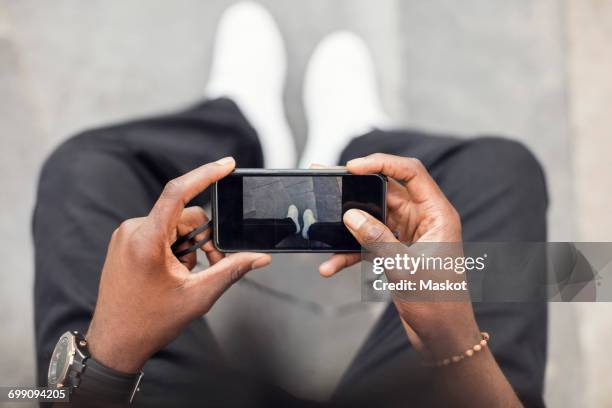
[[[542,170],[520,144],[420,132],[379,132],[354,139],[341,162],[372,152],[421,159],[455,205],[466,241],[543,241],[546,188]],[[148,213],[166,181],[232,155],[238,167],[261,167],[257,135],[229,100],[204,102],[165,117],[86,131],[61,145],[42,170],[34,212],[38,379],[58,337],[85,332],[96,302],[106,247],[119,223]],[[207,195],[193,204],[203,204]],[[128,271],[126,271],[128,273]],[[544,303],[475,304],[482,330],[519,397],[542,404],[546,362]],[[369,334],[331,403],[419,406],[429,380],[420,370],[393,306]],[[223,360],[204,319],[145,366],[140,404],[308,404],[235,372]],[[201,402],[201,404],[199,404]]]

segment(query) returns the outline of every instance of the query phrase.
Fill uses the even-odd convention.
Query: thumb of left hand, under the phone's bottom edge
[[[210,268],[190,276],[195,296],[202,302],[205,311],[230,286],[239,281],[247,272],[263,268],[272,261],[267,254],[239,252],[226,256]]]

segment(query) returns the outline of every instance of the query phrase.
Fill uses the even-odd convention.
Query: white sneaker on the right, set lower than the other
[[[300,167],[334,165],[351,139],[390,126],[372,56],[348,31],[332,33],[317,46],[306,69],[303,98],[308,139]]]

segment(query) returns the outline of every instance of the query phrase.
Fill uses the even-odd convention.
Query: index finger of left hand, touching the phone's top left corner
[[[149,220],[171,237],[185,205],[212,183],[230,174],[235,165],[232,157],[225,157],[169,181],[149,213]]]

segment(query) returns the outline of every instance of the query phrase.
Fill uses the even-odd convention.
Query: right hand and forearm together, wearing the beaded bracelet
[[[395,243],[393,248],[401,246],[399,241],[439,242],[450,243],[453,256],[462,255],[459,215],[421,162],[377,153],[351,160],[347,169],[353,174],[382,173],[389,177],[387,225],[357,209],[344,214],[344,224],[363,247],[376,253],[381,248],[376,244],[382,242]],[[399,241],[392,231],[399,233]],[[336,254],[320,266],[319,272],[332,276],[360,258],[360,254]],[[408,339],[426,360],[449,359],[481,340],[469,298],[412,301],[409,296],[393,296],[393,300]],[[433,405],[521,406],[488,347],[468,360],[444,366],[432,377],[438,390],[432,395]]]

